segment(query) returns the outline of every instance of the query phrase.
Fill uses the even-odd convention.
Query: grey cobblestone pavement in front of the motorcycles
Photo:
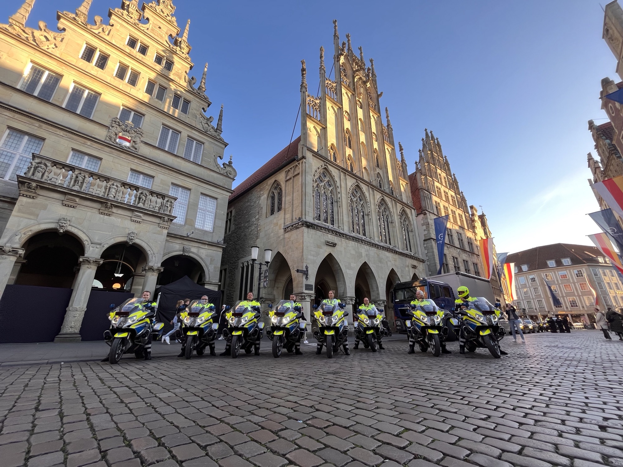
[[[0,466],[623,466],[623,342],[526,340],[6,367]]]

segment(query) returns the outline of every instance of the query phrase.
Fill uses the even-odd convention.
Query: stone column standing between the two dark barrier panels
[[[90,258],[81,256],[78,258],[78,274],[74,281],[74,291],[69,299],[69,306],[65,312],[63,326],[60,328],[58,336],[54,337],[54,342],[80,342],[80,326],[84,312],[87,311],[88,297],[91,295],[93,278],[97,267],[104,262],[101,258]]]

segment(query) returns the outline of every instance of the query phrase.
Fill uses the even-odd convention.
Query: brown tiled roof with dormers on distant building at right
[[[515,263],[520,268],[518,274],[527,272],[521,271],[521,265],[528,265],[528,271],[553,269],[547,265],[548,260],[556,260],[556,267],[565,267],[562,258],[569,258],[571,266],[582,265],[602,265],[609,266],[607,263],[600,263],[597,257],[603,257],[597,247],[588,245],[575,245],[574,243],[553,243],[541,247],[530,248],[523,252],[511,253],[506,257],[506,263]]]

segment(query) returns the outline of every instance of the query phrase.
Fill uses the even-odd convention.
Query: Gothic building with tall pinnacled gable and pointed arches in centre
[[[383,123],[374,62],[366,64],[361,47],[353,52],[350,35],[340,45],[334,25],[336,80],[321,47],[320,95],[311,95],[302,62],[300,136],[229,198],[227,303],[257,293],[254,245],[272,250],[262,300],[294,291],[306,313],[330,289],[348,304],[368,297],[383,307],[396,281],[426,274],[406,161],[402,149],[397,159],[387,108]]]

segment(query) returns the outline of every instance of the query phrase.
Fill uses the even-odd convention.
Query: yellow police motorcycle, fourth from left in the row
[[[305,333],[305,319],[300,306],[294,306],[292,300],[282,300],[277,308],[269,304],[270,328],[266,336],[272,341],[273,357],[281,355],[283,347],[291,354],[297,342]]]

